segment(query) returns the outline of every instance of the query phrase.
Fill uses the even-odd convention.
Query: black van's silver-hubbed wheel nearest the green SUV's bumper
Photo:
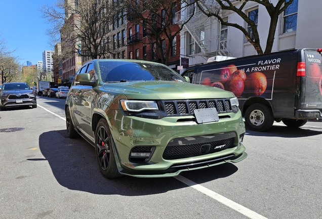
[[[274,116],[270,107],[255,103],[247,108],[245,121],[251,130],[267,131],[274,123]]]

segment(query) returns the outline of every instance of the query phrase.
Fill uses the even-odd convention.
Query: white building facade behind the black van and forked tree
[[[276,5],[277,0],[270,2]],[[242,3],[243,1],[234,2],[236,6]],[[294,0],[288,9],[279,15],[271,52],[295,48],[321,48],[321,0]],[[182,6],[181,22],[189,17],[192,10]],[[180,33],[180,54],[182,58],[189,58],[189,66],[207,63],[208,58],[217,55],[244,57],[257,54],[242,31],[221,25],[214,17],[208,18],[198,12],[196,7],[195,10],[194,17],[185,24]],[[248,2],[244,12],[257,21],[261,47],[265,50],[270,22],[266,8]],[[222,17],[229,23],[237,23],[248,29],[247,23],[234,12],[222,11]],[[180,25],[180,22],[178,24]]]

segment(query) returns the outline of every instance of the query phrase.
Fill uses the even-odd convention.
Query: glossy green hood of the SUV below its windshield
[[[215,99],[233,97],[233,93],[211,86],[175,81],[135,81],[103,84],[106,91],[123,93],[128,99]]]

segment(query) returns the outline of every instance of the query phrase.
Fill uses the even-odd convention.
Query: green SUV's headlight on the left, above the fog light
[[[124,109],[124,111],[135,112],[135,113],[139,113],[145,110],[155,111],[159,109],[155,101],[120,100],[120,104]]]

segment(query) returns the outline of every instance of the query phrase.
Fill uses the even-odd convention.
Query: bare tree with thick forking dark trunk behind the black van
[[[208,17],[215,17],[222,25],[232,26],[242,31],[247,40],[254,46],[258,54],[270,53],[272,51],[278,16],[284,12],[287,7],[293,3],[293,1],[294,0],[278,0],[274,6],[270,0],[195,0],[198,8]],[[251,2],[264,6],[270,16],[266,48],[264,52],[259,39],[257,23],[245,12],[246,4]],[[225,21],[223,19],[223,14],[227,11],[239,15],[240,18],[247,23],[249,28],[247,29],[237,23]]]

